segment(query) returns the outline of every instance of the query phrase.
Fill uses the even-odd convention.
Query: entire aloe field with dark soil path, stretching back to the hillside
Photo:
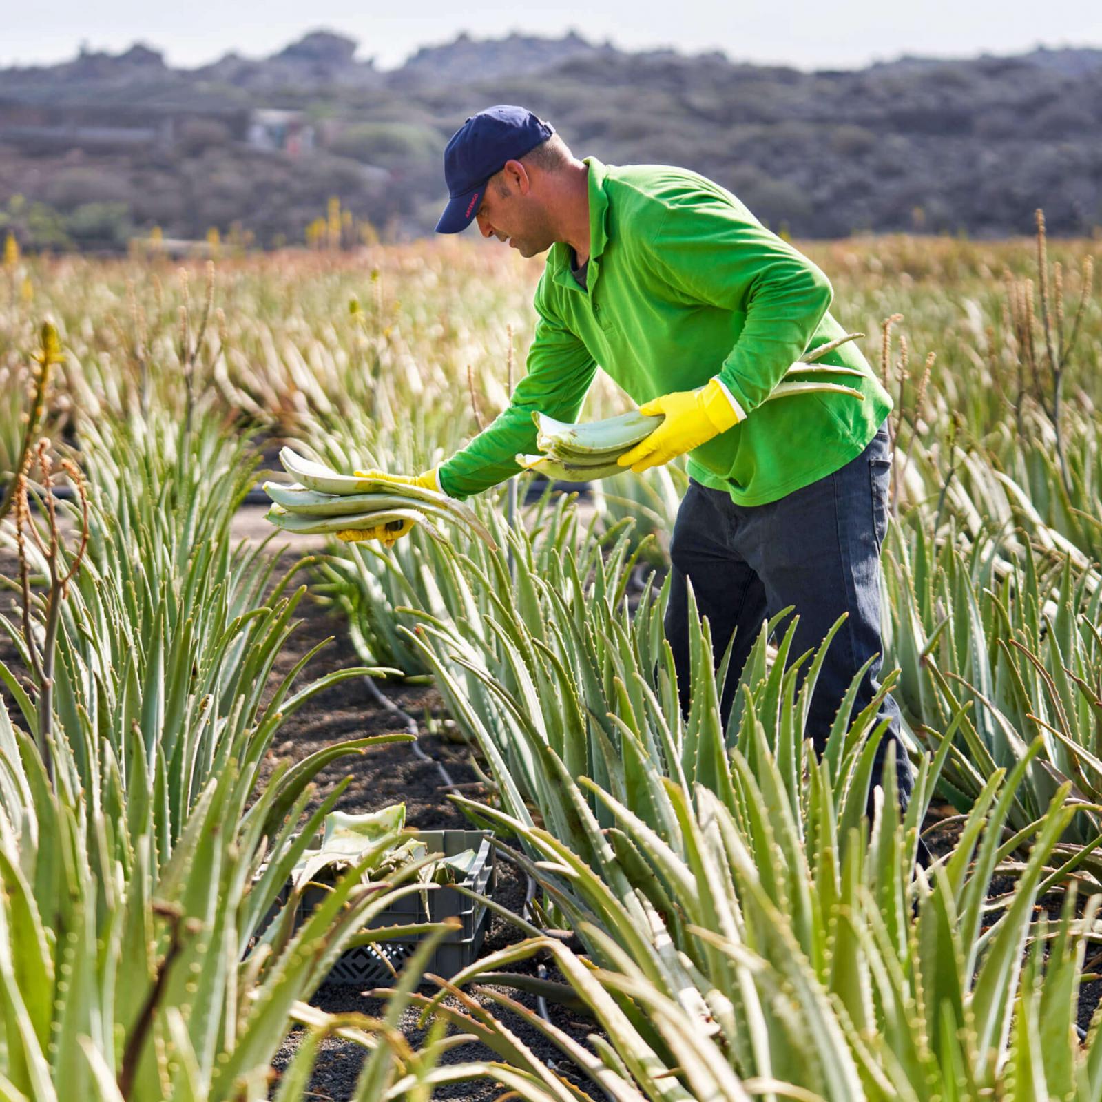
[[[1102,1100],[1099,242],[806,251],[895,400],[916,781],[872,821],[875,702],[804,739],[830,637],[734,670],[693,618],[682,713],[680,462],[392,547],[263,519],[282,447],[415,473],[489,423],[539,262],[6,250],[0,1098]],[[477,889],[417,833],[462,830]],[[391,916],[445,893],[485,936],[442,971],[461,921]]]

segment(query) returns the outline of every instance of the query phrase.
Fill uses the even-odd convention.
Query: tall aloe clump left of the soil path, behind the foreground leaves
[[[353,667],[292,691],[314,648],[266,700],[305,588],[291,590],[298,564],[273,576],[273,557],[230,538],[251,467],[241,445],[210,432],[184,442],[193,449],[186,464],[170,451],[139,460],[129,430],[117,431],[110,450],[86,447],[87,551],[61,609],[53,706],[82,784],[117,771],[123,790],[145,793],[143,813],[166,858],[190,807],[228,760],[253,787],[283,719],[327,685],[386,671]],[[162,436],[161,447],[171,450],[174,439]],[[122,477],[119,460],[134,461],[137,472],[144,465],[145,476]],[[183,466],[201,474],[181,482]],[[220,482],[238,467],[236,480]],[[30,572],[45,572],[42,551],[33,541],[24,547]],[[0,625],[30,667],[24,626]],[[10,672],[0,676],[34,733],[33,702]]]

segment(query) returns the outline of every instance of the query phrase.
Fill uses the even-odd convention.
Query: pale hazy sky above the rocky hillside
[[[302,3],[301,0],[3,0],[0,64],[72,57],[82,42],[118,51],[134,40],[174,65],[197,65],[234,48],[260,56],[326,26],[360,43],[383,67],[466,30],[498,37],[519,30],[612,39],[639,48],[723,50],[736,61],[802,68],[863,65],[901,53],[968,56],[1017,53],[1038,44],[1102,46],[1102,2],[1063,0],[591,0],[521,8],[444,0]]]

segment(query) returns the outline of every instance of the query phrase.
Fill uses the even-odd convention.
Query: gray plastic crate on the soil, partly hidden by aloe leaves
[[[463,887],[480,895],[493,888],[495,864],[491,831],[425,830],[418,831],[415,836],[424,842],[430,853],[442,853],[445,857],[454,857],[464,850],[474,850],[474,865],[462,882]],[[313,911],[321,901],[321,888],[307,889],[303,894],[295,926],[301,925]],[[441,922],[445,918],[458,918],[463,926],[444,934],[433,951],[425,971],[450,980],[471,964],[482,949],[486,927],[489,925],[489,909],[485,903],[456,892],[454,885],[430,887],[424,892],[411,892],[393,900],[391,906],[371,919],[366,929]],[[422,934],[414,933],[403,938],[400,931],[396,931],[386,941],[346,949],[337,958],[326,982],[360,986],[389,983],[393,976],[385,961],[389,961],[396,971],[401,971],[402,962],[413,954],[421,937]]]

